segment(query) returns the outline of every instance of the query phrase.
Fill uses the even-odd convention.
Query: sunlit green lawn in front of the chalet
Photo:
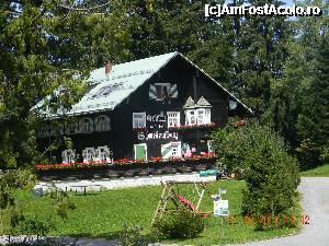
[[[229,224],[225,221],[223,237],[220,220],[209,216],[206,219],[206,230],[200,237],[175,241],[174,243],[193,245],[240,243],[293,234],[298,230],[282,229],[256,232],[253,226],[243,223],[243,218],[239,215],[241,212],[241,190],[245,183],[222,180],[209,184],[212,194],[215,194],[219,187],[227,190],[224,199],[229,200],[230,214],[238,215],[238,224]],[[23,191],[18,192],[16,197],[23,207],[24,213],[27,214],[26,216],[36,216],[44,221],[54,220],[56,230],[52,231],[52,235],[115,238],[125,222],[139,224],[145,229],[149,227],[161,190],[161,187],[141,187],[109,190],[86,196],[70,194],[70,199],[76,203],[77,209],[70,212],[67,221],[61,221],[58,218],[54,219],[54,216],[49,219],[52,218],[50,214],[54,213],[54,209],[52,200],[48,198],[37,198]],[[179,192],[193,201],[191,186],[180,187]],[[204,199],[201,210],[212,211],[212,201]],[[173,243],[173,241],[170,243]]]

